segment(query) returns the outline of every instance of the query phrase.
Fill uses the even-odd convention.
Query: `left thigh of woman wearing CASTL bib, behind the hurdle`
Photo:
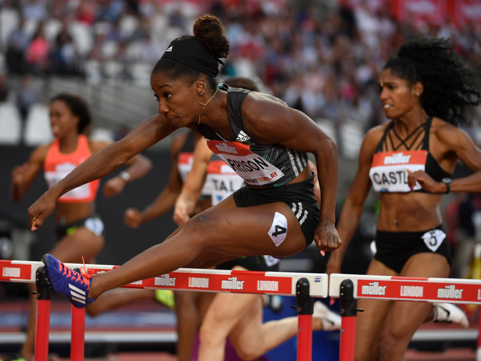
[[[368,275],[397,276],[397,273],[383,263],[373,259],[367,270]],[[359,312],[356,317],[356,361],[367,361],[375,357],[379,346],[379,337],[391,306],[391,301],[359,299]]]

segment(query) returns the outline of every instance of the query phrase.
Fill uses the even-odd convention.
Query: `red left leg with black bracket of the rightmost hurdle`
[[[354,298],[354,284],[350,279],[341,282],[339,293],[341,302],[341,341],[339,344],[339,361],[354,361],[354,343],[356,339],[357,299]]]

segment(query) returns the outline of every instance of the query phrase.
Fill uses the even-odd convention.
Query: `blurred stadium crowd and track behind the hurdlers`
[[[366,130],[386,121],[377,77],[401,44],[417,37],[450,38],[470,66],[481,69],[481,0],[0,0],[0,258],[37,260],[54,244],[52,218],[35,234],[28,230],[26,210],[46,191],[43,178],[38,177],[23,202],[16,204],[10,196],[13,167],[25,162],[33,147],[52,139],[49,99],[59,92],[84,97],[94,118],[91,136],[120,139],[157,112],[151,69],[169,42],[191,34],[193,21],[205,13],[222,20],[232,45],[219,82],[229,76],[253,78],[263,91],[308,114],[336,140],[339,209]],[[479,145],[481,109],[471,116],[472,126],[465,130]],[[152,172],[121,196],[107,201],[99,195],[97,208],[107,240],[99,263],[121,264],[174,230],[171,213],[137,230],[122,223],[126,208],[143,209],[165,185],[168,149],[169,139],[148,149]],[[467,172],[461,165],[456,168],[458,175]],[[343,272],[365,272],[377,209],[372,193]],[[453,248],[452,276],[480,278],[481,198],[449,195],[442,211]],[[281,269],[323,272],[326,262],[327,257],[308,248],[283,260]],[[19,348],[27,320],[26,297],[26,287],[0,284],[0,353]],[[68,305],[57,302],[52,327],[58,338],[52,347],[65,355]],[[286,299],[286,306],[290,302]],[[287,308],[283,315],[291,314]],[[173,351],[175,317],[159,309],[147,304],[90,319],[88,331],[113,336],[102,341],[91,336],[87,355]],[[467,311],[472,329],[428,326],[418,331],[406,359],[473,360],[478,316],[475,307]],[[278,315],[268,313],[269,317]],[[112,330],[131,336],[115,338]],[[336,359],[338,340],[338,334],[318,332],[313,359]],[[433,351],[434,356],[414,348]],[[295,359],[295,340],[266,357]]]

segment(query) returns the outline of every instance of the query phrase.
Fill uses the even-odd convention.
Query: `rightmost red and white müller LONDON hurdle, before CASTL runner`
[[[341,302],[339,361],[354,360],[358,298],[394,301],[481,304],[481,281],[458,278],[416,278],[331,274],[329,296]],[[481,317],[480,317],[481,319]],[[481,322],[479,323],[481,330]],[[481,361],[481,332],[476,361]]]

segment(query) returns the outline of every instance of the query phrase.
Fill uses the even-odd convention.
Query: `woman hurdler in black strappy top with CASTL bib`
[[[338,224],[349,242],[371,185],[380,192],[377,253],[367,274],[447,277],[450,249],[439,205],[458,159],[476,173],[454,180],[451,190],[481,191],[481,151],[456,127],[466,123],[466,108],[479,104],[481,78],[453,48],[439,39],[406,43],[379,76],[384,112],[392,120],[367,132]],[[328,273],[340,273],[345,250],[331,254]],[[365,299],[359,307],[365,312],[356,322],[356,361],[401,361],[431,310],[430,303]]]

